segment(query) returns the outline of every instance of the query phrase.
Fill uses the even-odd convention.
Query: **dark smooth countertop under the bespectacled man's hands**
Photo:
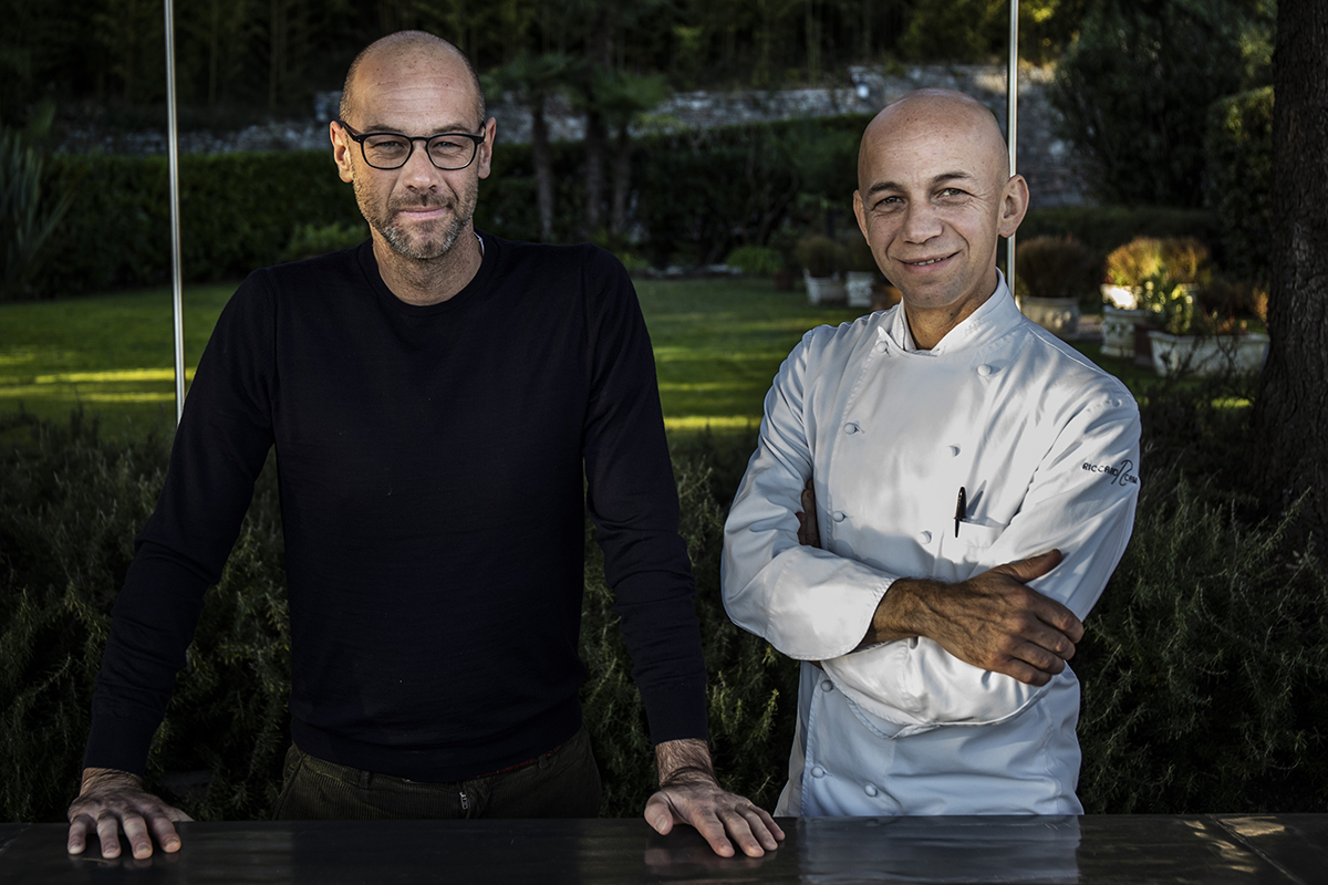
[[[0,824],[0,882],[1328,882],[1328,815],[780,823],[760,858],[636,819],[186,823],[178,854],[146,861],[70,857],[64,824]]]

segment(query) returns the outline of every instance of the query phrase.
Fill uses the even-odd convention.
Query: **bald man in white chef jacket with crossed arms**
[[[777,815],[1068,815],[1069,666],[1125,551],[1139,415],[1019,312],[1028,210],[977,101],[867,126],[854,211],[902,303],[780,368],[725,527],[724,602],[801,665]]]

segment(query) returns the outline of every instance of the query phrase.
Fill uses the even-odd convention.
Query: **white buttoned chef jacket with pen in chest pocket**
[[[931,350],[900,306],[803,336],[722,561],[729,617],[803,662],[777,813],[1082,813],[1070,667],[1036,687],[927,638],[854,649],[895,579],[963,581],[1052,548],[1064,560],[1029,586],[1086,617],[1129,540],[1138,463],[1130,393],[1024,318],[1004,277]],[[821,547],[797,539],[809,476]]]

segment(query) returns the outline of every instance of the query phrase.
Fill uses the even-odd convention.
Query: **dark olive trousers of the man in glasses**
[[[595,817],[599,768],[582,727],[535,762],[457,783],[422,783],[348,768],[295,744],[286,754],[276,820]]]

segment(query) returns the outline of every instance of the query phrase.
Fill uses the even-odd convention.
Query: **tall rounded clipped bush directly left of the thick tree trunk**
[[[1267,283],[1272,272],[1272,86],[1214,103],[1203,150],[1223,267],[1243,280]]]

